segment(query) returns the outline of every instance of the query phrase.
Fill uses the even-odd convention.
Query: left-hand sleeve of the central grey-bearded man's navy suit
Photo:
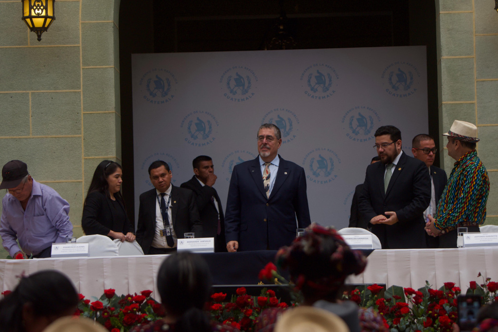
[[[225,210],[225,238],[227,243],[239,241],[241,228],[241,195],[238,183],[238,167],[234,167],[228,188],[227,208]]]

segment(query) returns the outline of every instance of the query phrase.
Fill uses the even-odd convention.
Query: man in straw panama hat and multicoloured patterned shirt
[[[477,127],[455,120],[448,137],[448,156],[457,162],[438,202],[434,218],[429,216],[426,231],[440,236],[440,248],[457,247],[457,228],[467,227],[469,232],[479,232],[479,225],[486,219],[486,201],[490,180],[486,168],[477,157]]]

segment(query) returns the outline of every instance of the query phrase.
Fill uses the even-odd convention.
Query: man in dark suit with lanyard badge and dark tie
[[[136,240],[146,255],[171,253],[184,233],[202,234],[194,193],[171,184],[171,170],[163,161],[153,162],[148,171],[154,189],[140,195]]]

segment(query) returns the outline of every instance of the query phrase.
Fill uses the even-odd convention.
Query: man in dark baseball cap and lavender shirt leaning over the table
[[[7,189],[0,218],[3,247],[12,257],[50,257],[52,243],[73,236],[69,203],[48,185],[36,182],[21,161],[5,164],[1,175],[0,189]]]

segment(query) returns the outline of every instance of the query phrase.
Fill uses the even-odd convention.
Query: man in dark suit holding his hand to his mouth
[[[199,156],[192,161],[194,176],[180,187],[194,192],[195,202],[202,222],[202,237],[215,238],[215,251],[227,252],[225,241],[225,218],[220,196],[213,185],[218,176],[214,173],[213,160],[209,156]]]

